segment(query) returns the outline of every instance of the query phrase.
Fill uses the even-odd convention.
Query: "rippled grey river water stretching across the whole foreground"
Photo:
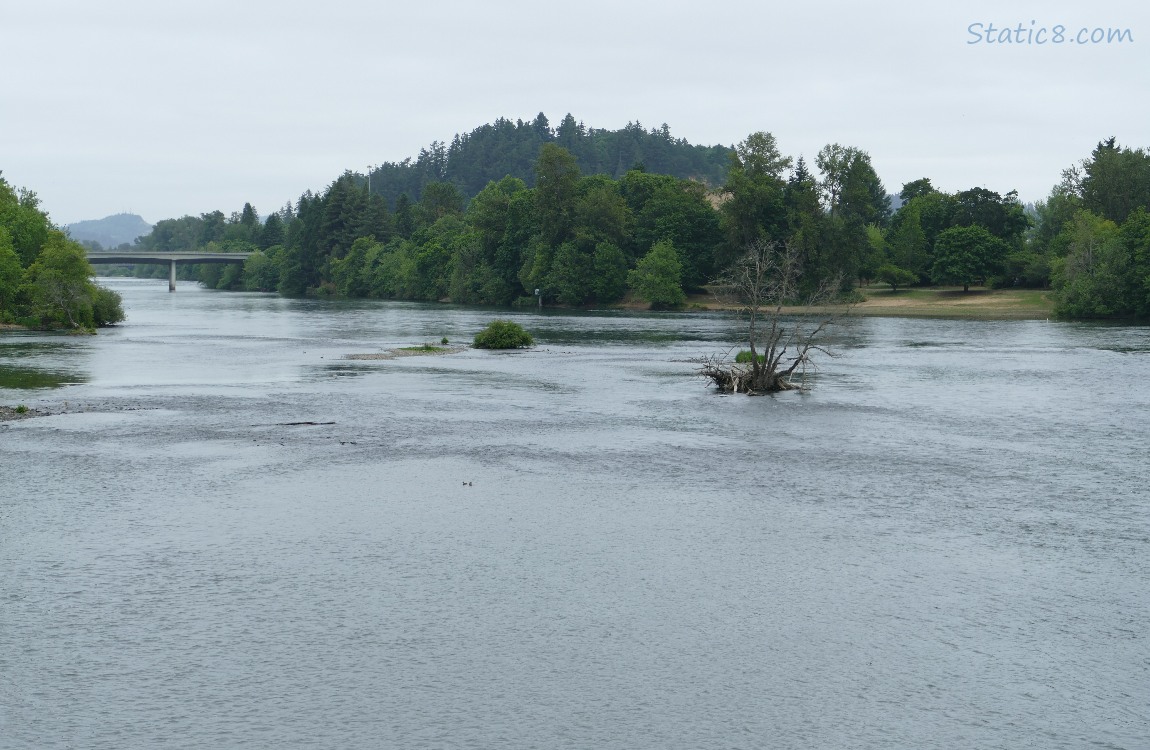
[[[105,283],[0,336],[0,748],[1150,748],[1150,329]]]

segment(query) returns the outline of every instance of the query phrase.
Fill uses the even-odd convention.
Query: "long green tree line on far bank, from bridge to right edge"
[[[783,155],[770,133],[751,133],[712,188],[646,163],[586,174],[561,132],[540,135],[530,182],[489,177],[468,194],[431,181],[417,200],[400,192],[389,205],[374,179],[369,191],[348,171],[266,219],[248,204],[230,216],[164,220],[140,243],[253,251],[243,268],[184,271],[218,289],[572,306],[630,292],[669,307],[752,243],[776,242],[797,253],[797,293],[829,278],[845,296],[874,282],[1052,288],[1066,316],[1150,314],[1150,156],[1114,139],[1032,207],[1013,191],[949,193],[923,177],[902,186],[894,209],[869,155],[852,146],[829,144],[808,164]]]

